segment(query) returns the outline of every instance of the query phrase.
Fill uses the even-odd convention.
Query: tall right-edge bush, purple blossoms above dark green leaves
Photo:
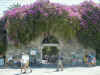
[[[94,50],[100,49],[100,8],[87,4],[83,7],[81,12],[81,29],[78,34],[79,41],[85,47],[93,48]],[[81,9],[82,10],[82,9]]]

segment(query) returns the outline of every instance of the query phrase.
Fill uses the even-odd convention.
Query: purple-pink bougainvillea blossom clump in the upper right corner
[[[100,8],[94,2],[84,2],[80,5],[81,23],[84,28],[94,26],[96,29],[100,24]]]

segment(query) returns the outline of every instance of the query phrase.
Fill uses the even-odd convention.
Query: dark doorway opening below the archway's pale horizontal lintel
[[[42,49],[42,60],[44,64],[55,64],[57,61],[59,49],[55,46],[45,46]]]

